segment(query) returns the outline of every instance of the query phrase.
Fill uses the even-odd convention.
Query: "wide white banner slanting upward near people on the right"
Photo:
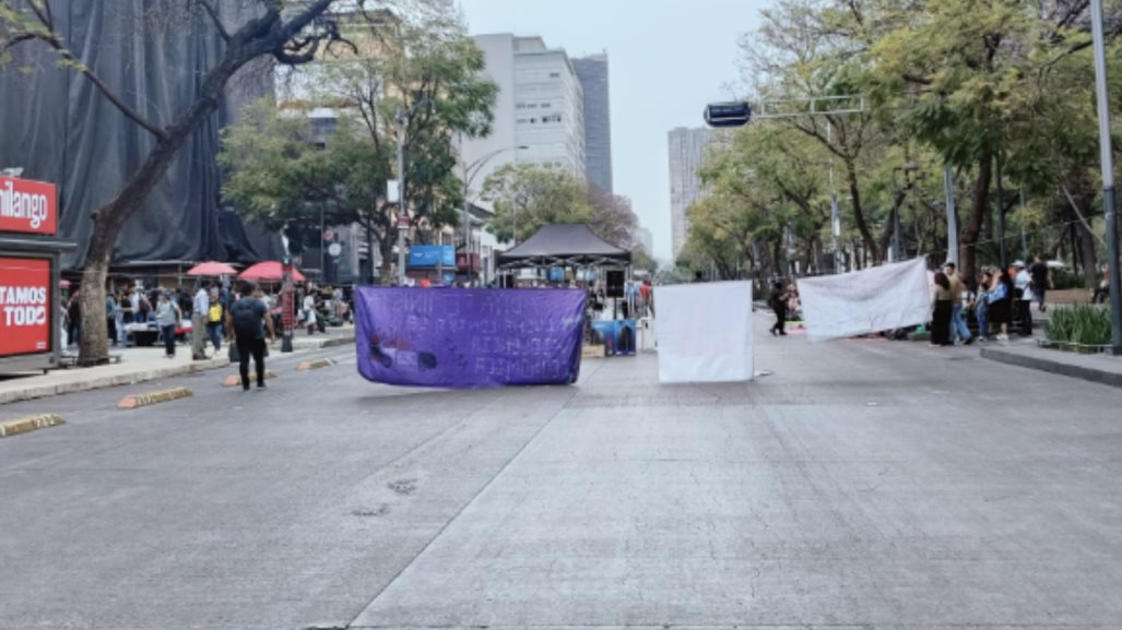
[[[931,289],[922,258],[803,278],[799,300],[810,341],[917,326],[931,318]]]

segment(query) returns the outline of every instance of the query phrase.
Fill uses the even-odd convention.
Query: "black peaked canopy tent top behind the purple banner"
[[[548,224],[500,254],[498,265],[502,269],[626,267],[631,252],[597,237],[585,223]]]

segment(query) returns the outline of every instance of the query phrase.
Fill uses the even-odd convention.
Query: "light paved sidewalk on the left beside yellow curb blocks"
[[[295,331],[293,351],[305,352],[347,345],[355,342],[355,327],[340,326],[328,328],[325,334],[307,335],[306,331]],[[278,352],[279,342],[272,346],[272,352]],[[191,346],[180,345],[175,358],[166,359],[163,348],[127,348],[110,349],[111,354],[121,356],[120,363],[98,365],[95,368],[68,368],[52,370],[43,374],[35,372],[26,377],[13,377],[0,380],[0,405],[19,400],[33,400],[75,391],[89,391],[121,385],[177,377],[203,370],[224,368],[230,364],[227,358],[227,346],[214,356],[213,346],[208,345],[206,361],[192,361]]]

